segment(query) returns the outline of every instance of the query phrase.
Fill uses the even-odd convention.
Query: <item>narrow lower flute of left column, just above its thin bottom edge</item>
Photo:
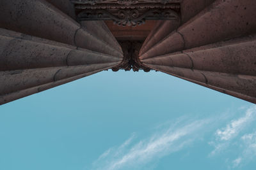
[[[116,63],[91,64],[90,66],[50,67],[40,69],[25,69],[0,72],[0,96],[19,90],[37,87],[79,74],[104,70],[115,66]]]

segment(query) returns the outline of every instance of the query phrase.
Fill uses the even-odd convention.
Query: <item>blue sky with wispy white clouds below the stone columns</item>
[[[0,169],[255,169],[256,105],[103,71],[0,106]]]

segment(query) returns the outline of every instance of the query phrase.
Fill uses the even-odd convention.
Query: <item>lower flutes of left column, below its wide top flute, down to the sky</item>
[[[120,64],[122,58],[0,29],[0,104]]]

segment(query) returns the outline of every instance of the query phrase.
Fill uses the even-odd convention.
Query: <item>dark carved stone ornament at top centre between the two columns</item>
[[[113,20],[141,25],[145,20],[179,20],[180,0],[72,0],[79,20]]]

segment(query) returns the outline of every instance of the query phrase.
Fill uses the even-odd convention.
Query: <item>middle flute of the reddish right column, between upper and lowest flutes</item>
[[[142,60],[144,64],[256,76],[256,36],[232,39],[180,53]]]

